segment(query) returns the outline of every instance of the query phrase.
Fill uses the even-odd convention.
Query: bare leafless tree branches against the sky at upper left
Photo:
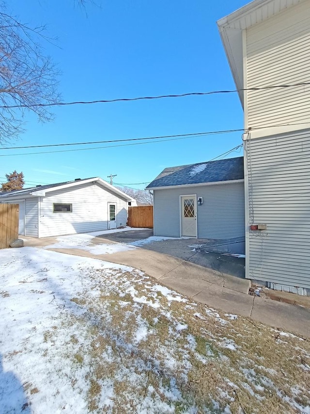
[[[45,36],[44,30],[44,26],[31,28],[9,16],[5,4],[0,3],[0,102],[2,106],[25,105],[14,110],[1,108],[0,143],[24,131],[27,111],[42,122],[53,119],[48,107],[32,106],[60,101],[60,72],[42,47],[42,41],[55,39]]]

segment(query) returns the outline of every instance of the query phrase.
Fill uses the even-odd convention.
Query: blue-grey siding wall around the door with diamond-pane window
[[[154,234],[180,237],[180,196],[203,198],[197,206],[198,237],[226,239],[244,236],[244,183],[214,184],[154,190]]]

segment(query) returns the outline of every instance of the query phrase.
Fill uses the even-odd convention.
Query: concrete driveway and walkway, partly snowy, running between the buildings
[[[75,240],[87,235],[78,234],[26,238],[25,245],[132,266],[195,301],[310,336],[309,309],[248,295],[250,281],[242,277],[244,259],[195,250],[205,239],[155,241],[152,235],[153,230],[96,235],[86,248]],[[59,242],[66,238],[74,243]]]

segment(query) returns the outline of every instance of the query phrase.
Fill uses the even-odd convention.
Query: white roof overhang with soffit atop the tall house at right
[[[244,105],[243,31],[307,0],[254,0],[217,21],[242,107]],[[259,86],[259,85],[258,85]]]

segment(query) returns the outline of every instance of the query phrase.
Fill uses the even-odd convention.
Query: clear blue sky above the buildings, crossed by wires
[[[9,11],[30,25],[47,24],[47,34],[58,37],[57,47],[45,48],[62,71],[59,90],[68,102],[234,89],[216,21],[247,2],[96,0],[99,7],[90,1],[86,15],[74,0],[10,0]],[[54,113],[55,120],[45,124],[26,115],[27,131],[9,146],[243,128],[236,93],[63,106]],[[112,173],[115,183],[144,188],[132,183],[150,182],[167,166],[207,161],[241,142],[241,132],[234,132],[50,154],[1,150],[0,182],[16,169],[27,186],[94,176],[109,180]]]

